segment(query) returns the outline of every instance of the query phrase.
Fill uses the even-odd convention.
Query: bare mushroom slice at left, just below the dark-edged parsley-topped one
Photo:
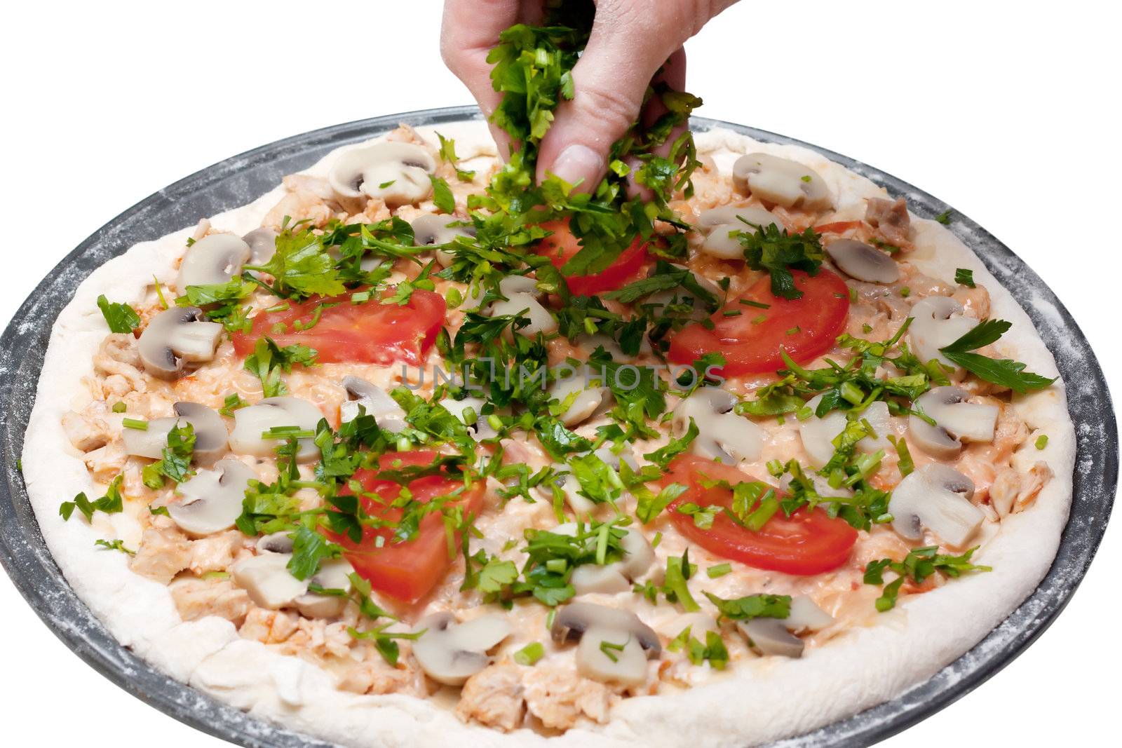
[[[241,514],[249,481],[256,479],[257,473],[237,460],[219,460],[213,470],[200,470],[175,488],[183,500],[167,505],[167,514],[192,535],[230,529]]]

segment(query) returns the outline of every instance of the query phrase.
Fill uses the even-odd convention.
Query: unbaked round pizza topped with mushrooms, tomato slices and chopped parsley
[[[507,161],[402,126],[80,286],[22,454],[67,580],[343,745],[748,745],[931,676],[1067,520],[1032,323],[953,214],[682,94],[536,184],[574,41],[515,31]]]

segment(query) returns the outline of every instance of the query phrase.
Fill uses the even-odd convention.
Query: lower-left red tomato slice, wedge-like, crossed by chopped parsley
[[[435,452],[427,451],[390,453],[381,455],[380,465],[387,470],[396,469],[398,462],[402,465],[425,465],[435,456]],[[402,510],[387,506],[401,493],[402,487],[398,483],[379,479],[376,470],[367,469],[358,470],[355,479],[362,483],[364,491],[377,493],[385,501],[383,504],[371,498],[362,498],[362,506],[371,517],[394,521],[401,519]],[[426,475],[411,482],[410,491],[417,501],[427,502],[462,487],[463,483],[459,480],[443,475]],[[344,488],[340,493],[350,495],[351,491]],[[466,514],[478,515],[482,508],[482,496],[484,484],[477,482],[448,506],[462,506]],[[421,520],[417,536],[410,541],[392,543],[394,537],[392,527],[365,527],[361,543],[355,543],[349,537],[334,533],[327,535],[346,548],[343,557],[355,566],[355,571],[362,579],[370,582],[370,587],[406,602],[415,602],[429,594],[444,579],[453,561],[448,554],[448,536],[444,534],[443,516],[439,511],[425,515]],[[379,536],[384,538],[381,547],[375,545]],[[457,550],[459,543],[460,537],[457,534]]]

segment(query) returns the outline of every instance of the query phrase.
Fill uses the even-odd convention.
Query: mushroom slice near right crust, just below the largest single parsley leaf
[[[921,450],[937,458],[953,458],[963,442],[992,442],[1001,408],[967,403],[962,387],[936,387],[916,398],[916,409],[935,419],[932,426],[918,415],[908,417],[908,434]]]

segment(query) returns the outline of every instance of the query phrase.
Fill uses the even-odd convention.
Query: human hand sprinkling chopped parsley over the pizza
[[[599,183],[611,144],[640,117],[652,77],[686,87],[682,44],[736,0],[598,0],[588,46],[572,71],[576,94],[562,101],[542,139],[537,179],[546,173],[565,182]],[[514,24],[537,24],[543,0],[447,0],[440,49],[444,63],[471,92],[486,116],[502,94],[491,87],[487,53]],[[661,72],[660,72],[660,68]],[[653,104],[652,104],[653,105]],[[644,120],[661,112],[644,112]],[[491,127],[499,153],[506,133]]]

